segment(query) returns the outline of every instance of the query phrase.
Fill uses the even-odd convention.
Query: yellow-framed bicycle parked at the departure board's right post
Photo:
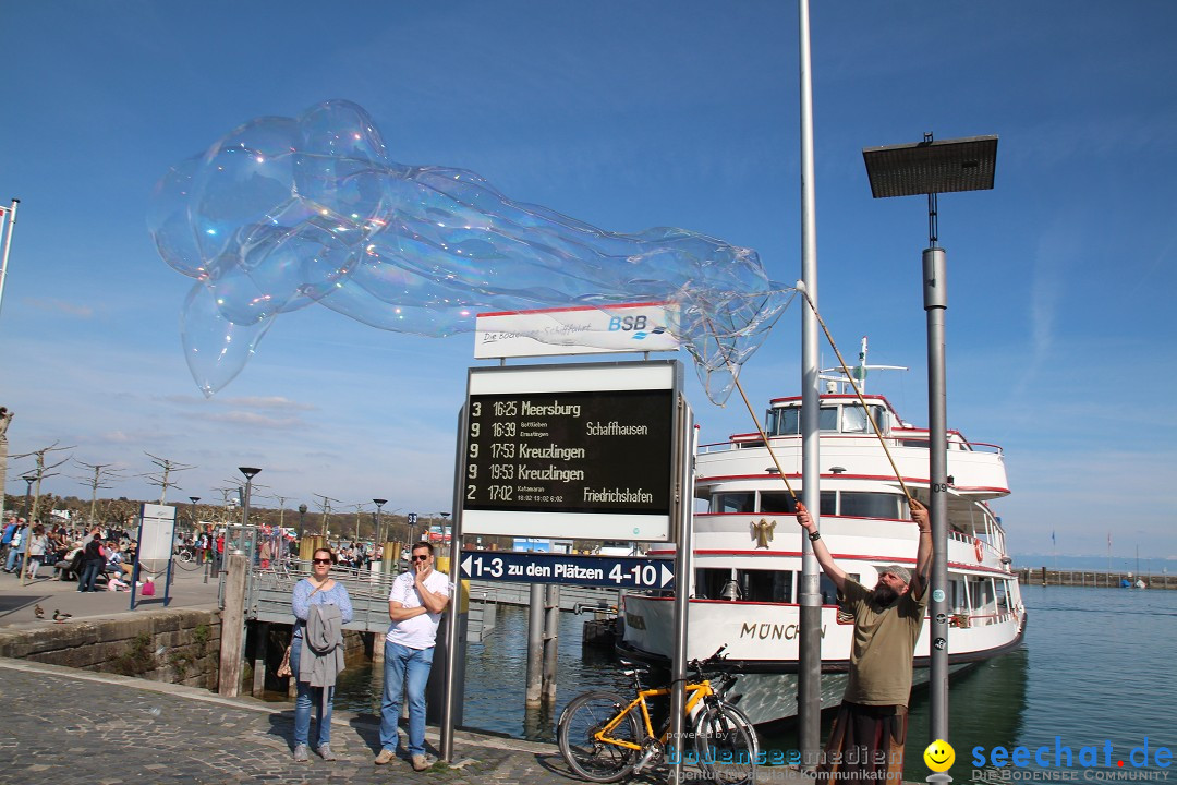
[[[679,744],[671,743],[670,718],[661,732],[654,733],[647,701],[669,696],[671,688],[643,688],[645,668],[626,671],[633,677],[632,700],[599,691],[573,698],[557,725],[560,754],[572,771],[593,783],[616,783],[653,764],[676,763],[681,756],[684,764],[698,765],[706,779],[730,785],[753,781],[759,746],[752,723],[723,698],[736,683],[731,668],[723,664],[725,648],[689,664],[697,678],[686,685],[687,730]]]

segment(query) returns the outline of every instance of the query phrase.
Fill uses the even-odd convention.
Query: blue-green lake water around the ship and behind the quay
[[[1024,586],[1030,612],[1025,645],[988,660],[953,679],[950,691],[950,739],[957,783],[973,781],[975,754],[993,747],[1029,747],[1025,767],[999,773],[1029,776],[1052,769],[1056,746],[1072,751],[1072,781],[1102,781],[1105,776],[1146,774],[1163,781],[1170,769],[1158,766],[1158,747],[1177,752],[1177,591]],[[586,617],[563,613],[558,696],[551,710],[525,711],[527,612],[500,606],[499,625],[484,643],[468,647],[464,724],[518,738],[554,740],[554,724],[564,705],[588,688],[625,690],[611,654],[581,651]],[[348,668],[341,677],[335,706],[379,713],[379,668]],[[912,699],[905,779],[924,780],[927,699]],[[829,720],[823,723],[823,733]],[[1056,737],[1058,740],[1056,741]],[[1148,765],[1133,767],[1130,753],[1148,739]],[[1111,767],[1104,766],[1111,744]],[[762,738],[765,749],[796,747],[796,733],[774,731]],[[1038,747],[1048,766],[1035,763]],[[982,747],[975,753],[975,747]],[[1082,747],[1098,749],[1098,770],[1084,770]],[[1090,754],[1090,753],[1089,753]],[[1136,761],[1141,761],[1137,752]],[[1116,764],[1123,760],[1121,769]],[[1162,759],[1161,763],[1164,763]],[[1055,771],[1057,776],[1059,772]],[[1177,781],[1177,776],[1175,776]]]

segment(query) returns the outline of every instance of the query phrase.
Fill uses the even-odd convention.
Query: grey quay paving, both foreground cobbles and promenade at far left
[[[215,576],[204,584],[198,571],[178,572],[172,608],[217,606]],[[119,618],[129,596],[81,594],[74,583],[40,580],[21,586],[0,574],[0,627],[36,628],[35,605],[80,619]],[[148,598],[131,613],[161,612],[162,597]],[[579,780],[552,744],[460,731],[453,765],[437,763],[414,772],[407,760],[373,765],[379,752],[379,718],[335,711],[327,763],[312,753],[295,764],[291,754],[294,706],[253,698],[222,698],[198,687],[95,673],[32,660],[0,658],[0,784],[88,785],[120,783],[438,783],[464,785],[571,785]],[[313,724],[312,724],[313,727]],[[312,731],[313,732],[313,731]],[[427,732],[437,753],[437,729]],[[401,731],[404,739],[404,730]],[[669,770],[654,769],[631,781],[665,783]],[[698,778],[696,769],[684,770]],[[696,780],[697,781],[697,780]],[[806,778],[785,769],[760,769],[757,781],[797,783]]]

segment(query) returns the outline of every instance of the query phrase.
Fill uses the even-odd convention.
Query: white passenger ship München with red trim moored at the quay
[[[865,379],[865,339],[857,379]],[[829,379],[829,377],[823,377]],[[917,527],[886,453],[862,403],[839,382],[820,395],[820,527],[838,565],[864,586],[889,564],[913,567]],[[902,420],[886,398],[863,395],[912,494],[929,503],[929,432]],[[764,433],[800,497],[800,398],[771,401]],[[949,666],[957,671],[1018,646],[1025,608],[1010,568],[1005,532],[989,501],[1009,494],[1004,457],[996,445],[947,438]],[[757,433],[699,448],[696,460],[694,570],[687,658],[726,644],[744,674],[731,694],[754,723],[797,713],[802,528],[786,490]],[[796,478],[796,479],[794,479]],[[705,511],[698,510],[705,507]],[[647,556],[670,557],[673,546]],[[822,585],[822,705],[837,705],[845,688],[853,623],[839,614],[837,590]],[[619,610],[618,648],[626,657],[669,663],[673,601],[665,593],[629,593]],[[929,623],[916,646],[916,684],[926,681]]]

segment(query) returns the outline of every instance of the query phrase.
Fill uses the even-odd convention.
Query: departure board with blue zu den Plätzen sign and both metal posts
[[[459,417],[450,578],[470,577],[664,587],[690,559],[693,418],[676,360],[471,368]],[[563,554],[463,554],[464,534],[677,540],[676,570],[646,559],[590,561]],[[593,566],[597,565],[597,566]],[[510,573],[514,571],[516,574]],[[539,576],[538,572],[550,572]],[[496,574],[498,573],[498,574]],[[579,577],[579,578],[578,578]],[[689,583],[689,581],[687,581]],[[597,584],[600,585],[600,584]],[[679,637],[672,700],[684,705],[686,601],[676,593]],[[453,757],[458,612],[451,600],[440,752]],[[672,743],[681,741],[674,714]],[[680,758],[681,756],[679,756]]]

